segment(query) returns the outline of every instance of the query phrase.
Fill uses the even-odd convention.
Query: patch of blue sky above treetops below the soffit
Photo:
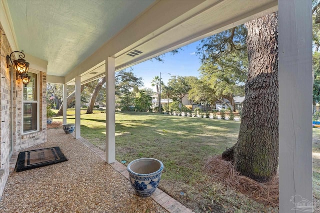
[[[155,91],[155,87],[151,86],[151,81],[154,76],[159,76],[161,72],[161,79],[164,84],[168,82],[170,73],[172,75],[180,76],[199,76],[198,68],[200,67],[199,56],[195,54],[196,46],[200,41],[196,41],[187,46],[182,47],[178,53],[172,55],[170,52],[166,53],[162,58],[163,62],[156,60],[147,60],[140,64],[132,66],[133,73],[137,77],[142,77],[144,88],[151,88]]]

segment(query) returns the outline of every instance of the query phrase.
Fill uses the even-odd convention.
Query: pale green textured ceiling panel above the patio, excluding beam
[[[154,0],[8,0],[19,50],[64,76]]]

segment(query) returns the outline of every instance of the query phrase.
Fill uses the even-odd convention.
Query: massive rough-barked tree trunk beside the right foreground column
[[[249,72],[237,143],[222,154],[234,156],[234,167],[259,182],[268,181],[278,166],[277,13],[249,21]]]

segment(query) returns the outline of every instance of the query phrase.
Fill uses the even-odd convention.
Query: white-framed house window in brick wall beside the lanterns
[[[23,85],[23,133],[34,132],[38,130],[38,75],[28,72],[30,82]]]

